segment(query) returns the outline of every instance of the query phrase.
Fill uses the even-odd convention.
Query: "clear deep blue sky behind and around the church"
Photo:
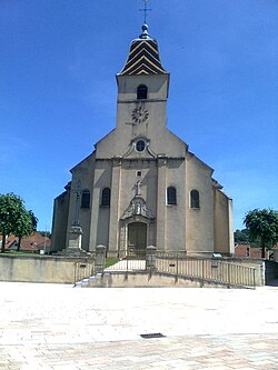
[[[150,0],[170,72],[168,128],[215,169],[235,229],[278,209],[278,1]],[[141,0],[0,0],[0,193],[51,228],[69,169],[116,124],[115,76]]]

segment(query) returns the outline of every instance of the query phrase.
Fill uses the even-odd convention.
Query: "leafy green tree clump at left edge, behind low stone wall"
[[[30,236],[37,228],[38,219],[28,211],[23,200],[14,193],[0,194],[0,233],[2,234],[1,251],[4,251],[6,237],[13,233],[19,237]]]

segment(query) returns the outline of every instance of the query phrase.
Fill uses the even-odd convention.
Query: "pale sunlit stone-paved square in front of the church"
[[[278,369],[277,287],[0,291],[0,369]]]

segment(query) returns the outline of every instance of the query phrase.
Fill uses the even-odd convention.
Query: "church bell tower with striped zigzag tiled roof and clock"
[[[146,23],[139,38],[130,44],[117,83],[117,127],[127,122],[137,127],[148,124],[151,133],[151,127],[166,126],[169,73],[161,64],[158,42],[150,37]]]

